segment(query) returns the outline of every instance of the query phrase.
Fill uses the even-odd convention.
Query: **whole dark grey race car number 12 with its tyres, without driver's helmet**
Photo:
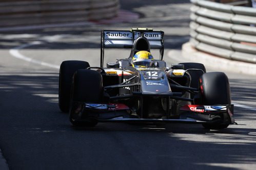
[[[131,48],[131,52],[103,67],[105,48]],[[151,49],[159,49],[159,59],[150,67],[132,66],[134,54]],[[163,31],[103,30],[100,67],[86,61],[62,62],[60,109],[69,112],[74,126],[180,122],[224,129],[234,123],[229,81],[223,72],[206,72],[203,64],[190,62],[167,67],[163,54]]]

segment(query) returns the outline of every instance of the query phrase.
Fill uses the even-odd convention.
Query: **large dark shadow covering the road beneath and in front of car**
[[[74,128],[58,110],[57,74],[17,72],[2,75],[0,82],[0,147],[11,169],[88,164],[106,169],[233,169],[232,164],[241,167],[256,159],[256,129],[247,126],[209,131],[194,124],[99,123]],[[250,96],[247,84],[242,90]]]

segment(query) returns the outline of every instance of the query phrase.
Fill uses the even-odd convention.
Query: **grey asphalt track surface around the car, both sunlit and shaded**
[[[226,72],[239,125],[220,131],[195,124],[75,128],[58,109],[58,66],[69,59],[99,66],[101,29],[163,30],[164,59],[168,64],[183,62],[181,45],[189,39],[191,4],[156,2],[121,1],[122,9],[140,13],[129,23],[0,33],[0,149],[10,169],[256,168],[253,76]],[[126,53],[109,50],[106,55],[114,60]]]

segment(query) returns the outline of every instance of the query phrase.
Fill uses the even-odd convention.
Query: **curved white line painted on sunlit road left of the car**
[[[9,53],[13,57],[18,58],[18,59],[22,59],[24,61],[28,61],[28,62],[31,62],[31,63],[34,63],[34,64],[43,65],[43,66],[47,66],[47,67],[50,67],[50,68],[60,69],[60,65],[50,64],[50,63],[46,63],[46,62],[43,62],[43,61],[38,61],[38,60],[35,60],[35,59],[32,59],[32,58],[26,57],[26,56],[22,55],[21,53],[19,53],[19,50],[21,50],[22,48],[32,46],[32,45],[38,45],[38,44],[42,44],[42,42],[41,41],[33,41],[31,43],[28,43],[28,44],[17,46],[15,48],[12,48],[11,50],[9,50]]]

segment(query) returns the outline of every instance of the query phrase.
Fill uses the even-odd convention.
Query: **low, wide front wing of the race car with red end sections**
[[[71,119],[77,122],[94,118],[98,122],[145,122],[145,123],[222,123],[233,124],[233,105],[185,105],[181,107],[179,118],[139,118],[129,113],[124,104],[89,104],[73,102]],[[221,118],[221,119],[220,119]],[[220,122],[221,121],[221,122]]]

